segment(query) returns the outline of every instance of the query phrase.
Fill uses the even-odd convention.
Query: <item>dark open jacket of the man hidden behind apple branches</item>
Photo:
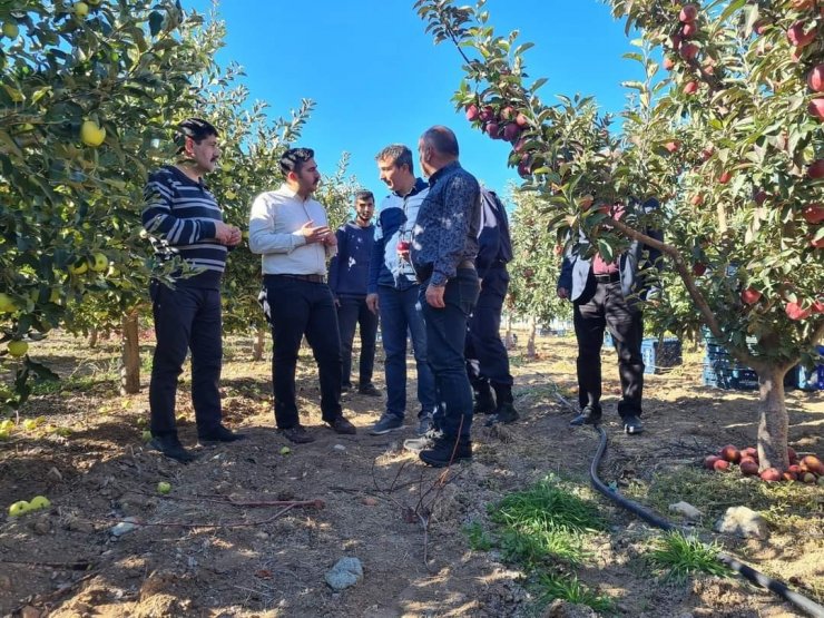
[[[645,213],[656,210],[659,206],[659,202],[654,197],[640,205]],[[663,239],[663,235],[658,229],[647,229],[647,235],[656,239]],[[648,252],[648,256],[644,261],[645,264],[641,264],[644,252]],[[644,300],[653,295],[653,288],[642,278],[638,277],[639,267],[642,265],[655,265],[660,271],[663,266],[661,254],[658,249],[634,239],[627,251],[618,258],[621,293],[625,298],[637,297]],[[568,290],[570,292],[569,300],[575,302],[580,298],[587,288],[591,271],[592,264],[589,259],[567,254],[563,256],[563,263],[561,264],[558,287]]]

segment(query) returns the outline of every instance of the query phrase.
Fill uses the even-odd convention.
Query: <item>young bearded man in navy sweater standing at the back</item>
[[[328,286],[337,305],[337,326],[343,354],[342,390],[352,389],[352,341],[355,339],[355,326],[360,326],[361,362],[357,392],[362,395],[381,396],[381,392],[372,384],[377,316],[366,305],[369,265],[375,241],[375,226],[372,223],[374,212],[375,196],[372,192],[357,192],[355,218],[342,225],[335,233],[337,255],[328,265]]]

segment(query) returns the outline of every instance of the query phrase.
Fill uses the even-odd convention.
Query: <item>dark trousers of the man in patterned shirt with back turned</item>
[[[421,284],[420,302],[426,323],[426,361],[435,379],[435,425],[447,439],[469,440],[472,428],[472,386],[467,375],[467,321],[478,301],[474,268],[459,268],[443,292],[445,307],[426,302],[429,281]]]

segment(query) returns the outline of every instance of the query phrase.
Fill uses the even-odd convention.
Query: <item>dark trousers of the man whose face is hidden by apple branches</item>
[[[618,413],[640,416],[644,322],[641,312],[630,307],[624,297],[620,282],[596,284],[590,279],[583,296],[573,303],[573,323],[578,339],[578,400],[581,408],[600,406],[601,346],[604,328],[607,327],[618,351],[622,393]]]

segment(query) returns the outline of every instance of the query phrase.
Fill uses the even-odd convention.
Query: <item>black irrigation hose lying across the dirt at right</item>
[[[589,468],[589,477],[592,481],[592,485],[604,496],[616,502],[618,506],[634,512],[644,521],[651,523],[653,526],[656,526],[658,528],[663,528],[664,530],[677,530],[678,527],[674,523],[657,516],[656,513],[644,508],[637,502],[632,502],[631,500],[624,498],[617,491],[612,491],[608,485],[604,484],[604,481],[598,478],[598,467],[601,463],[604,452],[607,450],[607,432],[604,431],[604,429],[600,426],[596,426],[595,430],[600,434],[600,442],[598,443],[598,450],[596,451],[595,458],[592,459],[592,464]],[[789,601],[795,607],[797,607],[802,611],[805,611],[810,616],[813,616],[814,618],[824,618],[824,607],[804,597],[803,595],[791,590],[783,581],[778,581],[777,579],[773,579],[772,577],[767,577],[764,573],[756,571],[754,568],[739,562],[728,553],[718,552],[717,558],[720,562],[725,563],[734,571],[743,575],[755,586],[758,586],[759,588],[766,588],[767,590],[775,592],[784,600]]]

